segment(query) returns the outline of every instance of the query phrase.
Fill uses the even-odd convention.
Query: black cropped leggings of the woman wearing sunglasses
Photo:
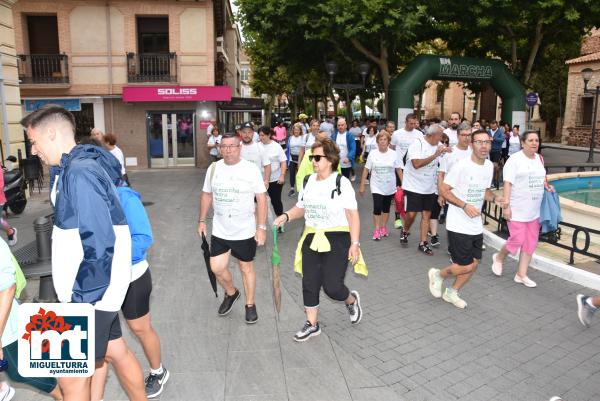
[[[344,285],[348,267],[348,249],[350,249],[350,233],[325,233],[331,251],[316,252],[310,249],[314,234],[308,234],[302,244],[302,296],[304,306],[319,306],[321,287],[329,297],[336,301],[345,301],[350,295]]]

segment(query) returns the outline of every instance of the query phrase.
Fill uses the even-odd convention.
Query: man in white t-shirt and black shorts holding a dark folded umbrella
[[[206,216],[213,205],[210,240],[210,267],[225,290],[218,314],[225,316],[240,297],[229,271],[229,255],[240,262],[246,295],[246,323],[256,323],[254,304],[256,246],[262,246],[267,230],[267,196],[263,177],[256,164],[241,158],[238,136],[224,134],[219,148],[223,159],[212,164],[204,178],[200,198],[198,233],[206,236]],[[254,198],[256,197],[256,206]],[[256,216],[255,216],[256,212]]]

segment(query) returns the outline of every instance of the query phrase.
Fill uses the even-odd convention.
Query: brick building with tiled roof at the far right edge
[[[594,29],[591,35],[581,45],[581,56],[567,60],[569,80],[567,83],[567,102],[565,106],[565,121],[562,130],[562,142],[568,145],[589,146],[592,124],[600,130],[598,121],[593,122],[594,96],[584,94],[581,71],[591,68],[592,78],[588,89],[600,85],[600,29]],[[596,136],[596,146],[600,138]]]

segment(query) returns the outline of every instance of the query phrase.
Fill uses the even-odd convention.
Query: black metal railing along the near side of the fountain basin
[[[486,206],[483,209],[483,224],[489,224],[488,219],[492,220],[497,224],[496,231],[494,232],[502,238],[508,237],[508,225],[506,220],[502,217],[502,208],[489,202],[486,202]],[[600,237],[600,230],[595,230],[589,227],[578,226],[567,222],[561,222],[558,224],[558,229],[553,233],[541,234],[539,236],[540,242],[545,242],[552,246],[556,246],[561,249],[569,251],[569,264],[575,263],[575,254],[592,257],[600,261],[600,254],[596,254],[590,251],[591,235]],[[567,230],[564,230],[566,228]],[[565,234],[565,231],[570,231],[571,241],[560,242],[561,237]],[[578,241],[580,234],[583,234],[583,246],[579,247]]]

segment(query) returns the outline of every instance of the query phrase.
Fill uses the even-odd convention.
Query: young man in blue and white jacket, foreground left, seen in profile
[[[59,167],[52,278],[61,302],[94,305],[96,362],[112,363],[130,400],[146,400],[142,370],[122,338],[119,316],[131,278],[131,236],[116,188],[91,145],[76,145],[75,119],[57,105],[26,116],[34,155]],[[107,157],[107,156],[106,156]],[[89,400],[90,378],[59,378],[65,401]]]

